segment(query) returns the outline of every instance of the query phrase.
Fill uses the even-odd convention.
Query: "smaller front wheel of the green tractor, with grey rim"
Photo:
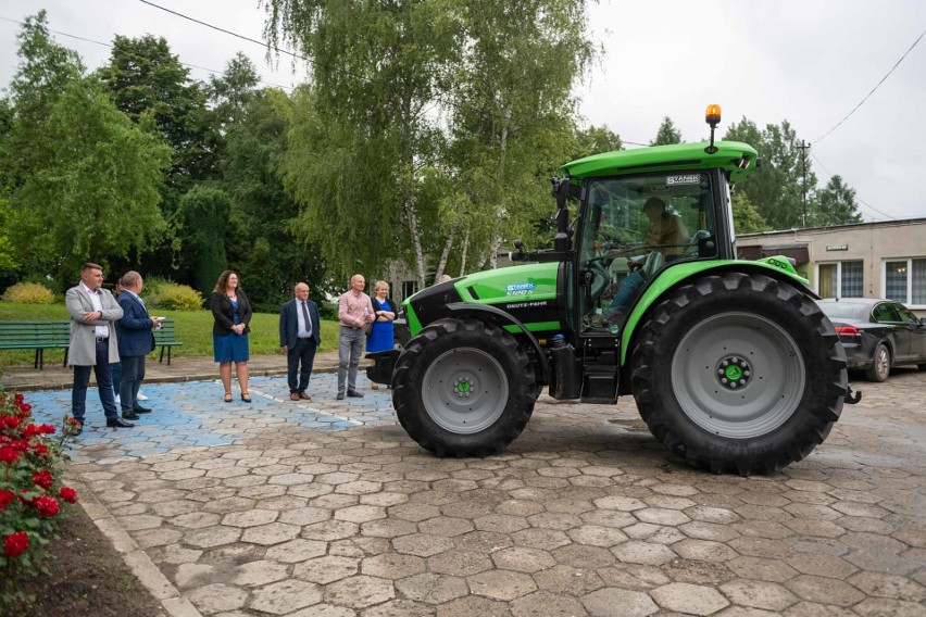
[[[425,450],[481,457],[521,435],[537,389],[527,354],[505,330],[478,319],[440,319],[399,356],[392,404]]]

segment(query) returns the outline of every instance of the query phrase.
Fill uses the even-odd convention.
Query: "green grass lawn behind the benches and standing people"
[[[162,311],[154,310],[159,317],[170,317],[176,324],[177,340],[184,344],[171,352],[176,357],[212,355],[211,311]],[[64,304],[16,304],[0,302],[0,319],[67,319]],[[279,351],[279,315],[254,313],[251,319],[251,353],[277,353]],[[321,351],[338,349],[338,323],[322,322]],[[151,354],[158,357],[160,348]],[[0,367],[32,364],[34,350],[0,351]],[[64,362],[64,350],[46,350],[46,364]]]

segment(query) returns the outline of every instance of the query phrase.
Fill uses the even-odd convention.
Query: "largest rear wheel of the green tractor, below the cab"
[[[769,474],[823,443],[842,411],[846,353],[794,287],[706,276],[671,291],[643,325],[631,387],[652,433],[716,474]]]

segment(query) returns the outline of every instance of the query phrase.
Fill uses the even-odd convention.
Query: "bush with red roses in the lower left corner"
[[[18,577],[40,571],[62,506],[77,501],[58,469],[73,426],[65,418],[53,438],[58,429],[32,421],[22,394],[0,391],[0,606],[17,597]]]

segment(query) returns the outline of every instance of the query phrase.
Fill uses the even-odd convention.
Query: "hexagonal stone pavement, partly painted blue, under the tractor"
[[[629,398],[545,395],[505,454],[439,459],[362,386],[146,385],[117,431],[91,392],[72,473],[174,615],[926,615],[926,373],[858,385],[824,445],[751,478],[672,459]]]

